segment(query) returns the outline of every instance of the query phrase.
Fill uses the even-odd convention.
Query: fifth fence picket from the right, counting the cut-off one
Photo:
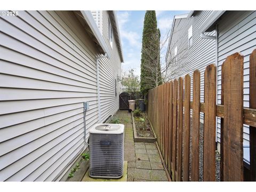
[[[183,181],[189,181],[190,76],[185,76]]]

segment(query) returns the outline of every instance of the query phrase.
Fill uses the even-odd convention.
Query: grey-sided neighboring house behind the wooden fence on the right
[[[192,30],[189,30],[190,26],[193,26]],[[184,49],[189,46],[191,31],[193,38],[191,49]],[[180,37],[182,38],[179,39]],[[255,11],[191,11],[182,19],[174,18],[169,51],[166,55],[167,62],[174,57],[175,47],[177,47],[177,57],[181,57],[177,65],[184,63],[182,67],[185,68],[185,72],[178,68],[177,77],[189,73],[192,81],[191,74],[195,69],[199,69],[203,80],[205,67],[215,63],[218,68],[218,104],[221,102],[221,65],[228,55],[241,52],[244,55],[244,107],[249,107],[249,55],[256,49]],[[179,50],[185,50],[181,56]],[[182,55],[187,56],[182,57]],[[204,82],[201,81],[201,93],[204,89],[203,84]],[[201,101],[203,101],[202,95]],[[220,142],[220,118],[217,119],[216,140]],[[247,148],[249,144],[249,126],[244,125],[244,160],[247,163],[250,159]]]

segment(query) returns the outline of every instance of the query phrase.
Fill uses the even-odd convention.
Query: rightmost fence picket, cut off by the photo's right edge
[[[250,108],[256,109],[256,49],[250,55]],[[256,181],[256,127],[250,126],[250,173]]]

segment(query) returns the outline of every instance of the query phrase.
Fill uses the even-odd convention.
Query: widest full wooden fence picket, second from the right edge
[[[243,63],[235,53],[227,57],[225,68],[223,123],[223,180],[243,181]]]

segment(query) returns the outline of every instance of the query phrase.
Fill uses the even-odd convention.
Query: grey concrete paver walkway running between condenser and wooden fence
[[[117,111],[115,117],[125,125],[124,161],[128,162],[127,181],[168,181],[156,144],[134,142],[131,113]]]

